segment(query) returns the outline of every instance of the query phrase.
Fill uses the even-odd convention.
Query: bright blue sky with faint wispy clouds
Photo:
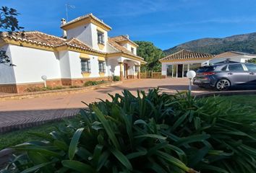
[[[255,0],[0,0],[20,12],[25,30],[61,35],[60,19],[93,13],[112,27],[110,36],[148,40],[163,50],[202,37],[256,32]]]

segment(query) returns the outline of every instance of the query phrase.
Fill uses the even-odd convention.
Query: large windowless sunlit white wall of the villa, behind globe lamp
[[[58,53],[34,48],[10,45],[16,83],[42,82],[41,76],[48,79],[60,79]]]

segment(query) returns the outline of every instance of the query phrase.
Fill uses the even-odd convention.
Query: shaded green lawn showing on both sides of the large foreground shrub
[[[236,104],[247,105],[247,106],[256,108],[256,95],[228,96],[226,97],[226,100],[234,102]],[[11,133],[2,134],[0,135],[0,150],[8,146],[14,146],[18,143],[23,143],[25,141],[31,141],[31,140],[37,139],[34,136],[28,135],[27,133],[29,132],[50,133],[51,131],[56,130],[56,126],[58,125],[65,125],[65,122],[61,121],[61,122],[55,122],[55,123],[47,123],[46,125],[41,125],[34,128],[17,130]]]

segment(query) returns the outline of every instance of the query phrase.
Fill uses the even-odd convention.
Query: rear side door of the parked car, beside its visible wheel
[[[244,71],[244,67],[241,63],[229,64],[227,77],[232,85],[246,84],[249,80],[248,73]]]

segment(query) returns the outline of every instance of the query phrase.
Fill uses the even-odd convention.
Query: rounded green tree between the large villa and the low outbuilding
[[[137,48],[137,55],[144,58],[146,65],[141,67],[141,71],[161,71],[161,63],[158,61],[163,58],[164,53],[160,48],[155,47],[151,42],[135,41],[139,48]]]

